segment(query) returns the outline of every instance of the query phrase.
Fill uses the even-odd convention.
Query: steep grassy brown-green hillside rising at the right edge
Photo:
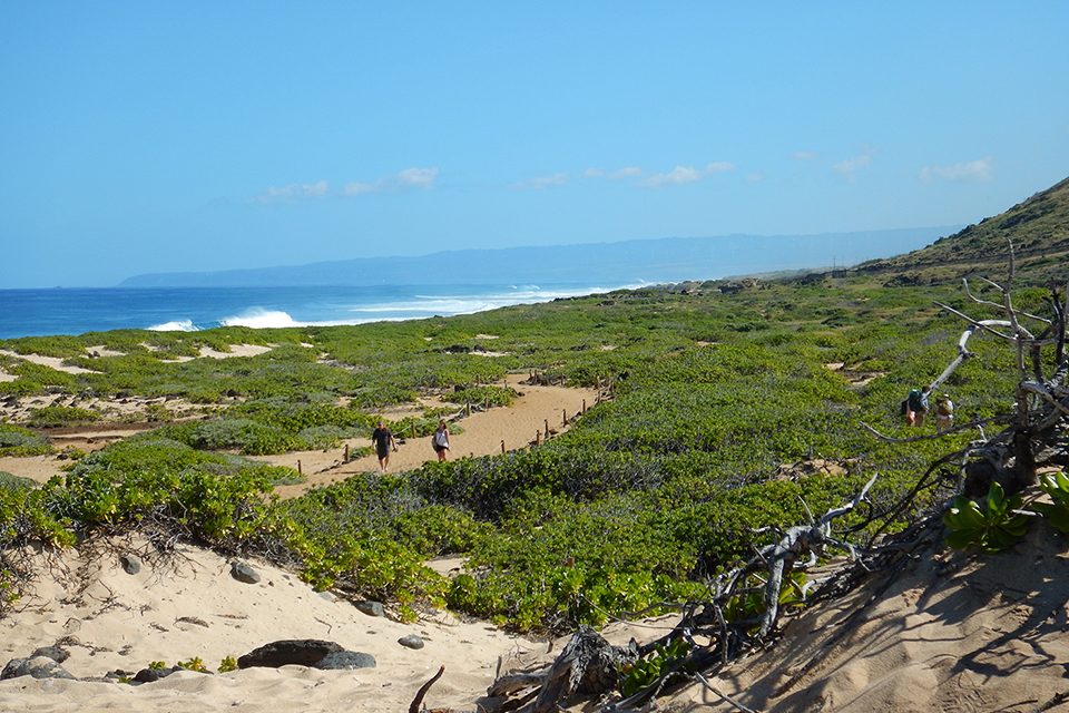
[[[905,284],[953,281],[970,274],[999,281],[1007,274],[1007,238],[1013,242],[1018,276],[1026,284],[1063,283],[1069,256],[1069,178],[928,247],[871,261],[859,270],[891,280],[898,275],[896,282]]]

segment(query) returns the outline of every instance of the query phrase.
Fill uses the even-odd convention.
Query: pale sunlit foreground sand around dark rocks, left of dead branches
[[[39,564],[47,564],[43,556]],[[376,667],[291,665],[215,675],[184,671],[139,686],[23,676],[0,682],[0,711],[395,712],[405,710],[443,664],[447,675],[433,688],[433,704],[474,710],[499,656],[547,649],[447,613],[413,625],[372,617],[314,592],[293,574],[252,565],[262,577],[258,584],[237,582],[226,559],[196,548],[182,548],[173,563],[145,566],[136,575],[119,566],[118,550],[89,559],[68,554],[50,560],[53,576],[42,569],[36,596],[0,622],[0,646],[13,658],[61,642],[70,653],[62,666],[79,678],[102,678],[116,670],[133,675],[151,662],[174,665],[194,657],[216,670],[226,656],[298,638],[327,639],[371,654]],[[423,639],[423,648],[398,643],[411,634]]]

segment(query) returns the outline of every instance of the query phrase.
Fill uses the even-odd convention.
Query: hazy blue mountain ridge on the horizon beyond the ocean
[[[825,233],[664,237],[547,247],[461,250],[307,265],[135,275],[119,287],[372,286],[675,282],[854,264],[916,250],[960,226]]]

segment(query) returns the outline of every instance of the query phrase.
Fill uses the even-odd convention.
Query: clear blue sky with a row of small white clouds
[[[1069,176],[1067,37],[1062,0],[0,0],[0,289],[974,223]]]

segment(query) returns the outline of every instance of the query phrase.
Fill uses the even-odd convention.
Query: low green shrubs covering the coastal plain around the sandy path
[[[902,528],[949,496],[952,477],[935,478],[900,507],[929,463],[964,448],[975,430],[903,447],[860,424],[916,432],[899,402],[954,356],[961,326],[933,302],[960,309],[967,297],[954,284],[886,282],[863,273],[736,293],[713,283],[700,294],[619,291],[362,326],[0,342],[91,370],[71,374],[9,359],[4,369],[18,378],[0,383],[0,395],[180,397],[217,411],[90,453],[41,488],[0,489],[0,557],[8,557],[0,586],[9,597],[24,586],[20,563],[2,554],[14,545],[138,530],[160,547],[177,536],[259,555],[316,587],[392,602],[402,618],[448,604],[553,632],[699,599],[710,577],[774,541],[761,528],[805,522],[810,512],[850,501],[873,475],[867,501],[836,527],[874,529],[881,516],[884,530]],[[1042,312],[1048,294],[1021,299]],[[477,349],[487,334],[497,338],[492,359]],[[176,361],[235,343],[273,349]],[[101,344],[121,355],[86,351]],[[1008,413],[1012,353],[982,335],[970,350],[975,358],[941,387],[959,422]],[[442,395],[458,410],[507,406],[516,395],[501,385],[509,373],[596,387],[606,398],[538,447],[365,473],[287,501],[273,498],[273,484],[296,473],[232,455],[331,447],[366,434],[384,407],[418,393]],[[28,426],[98,416],[45,407]],[[440,416],[428,411],[392,428],[428,434]],[[7,424],[0,448],[28,456],[48,447],[35,431]],[[963,541],[993,548],[1001,533],[1016,531],[1012,514],[959,506],[952,517]],[[426,566],[442,555],[464,558],[463,573],[449,579]],[[742,613],[754,605],[735,606]],[[674,655],[666,649],[661,663],[629,675],[648,678]]]

